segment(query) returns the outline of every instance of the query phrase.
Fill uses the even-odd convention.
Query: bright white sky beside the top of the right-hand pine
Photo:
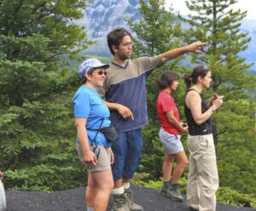
[[[175,11],[179,11],[180,14],[189,14],[189,9],[185,4],[185,0],[166,0],[166,8],[170,8],[172,3],[172,8]],[[241,11],[247,11],[246,19],[256,20],[256,12],[255,0],[238,0],[236,4],[234,4],[234,9],[241,9]]]

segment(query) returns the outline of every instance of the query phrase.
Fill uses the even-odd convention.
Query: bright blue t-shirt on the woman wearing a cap
[[[73,97],[74,117],[82,117],[87,119],[86,127],[90,145],[96,136],[97,145],[111,145],[102,133],[96,135],[96,130],[108,127],[110,125],[109,110],[102,100],[102,97],[96,90],[83,85],[79,88]],[[79,142],[79,139],[77,139]]]

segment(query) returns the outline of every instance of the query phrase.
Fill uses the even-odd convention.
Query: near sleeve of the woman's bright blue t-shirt
[[[73,100],[74,117],[88,118],[90,114],[90,94],[79,93]]]

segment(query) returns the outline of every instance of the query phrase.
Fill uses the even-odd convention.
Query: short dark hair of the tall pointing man
[[[119,47],[119,44],[122,42],[122,39],[127,35],[131,37],[131,33],[129,31],[125,30],[125,28],[117,28],[108,33],[108,36],[107,36],[108,48],[109,48],[111,54],[114,55],[112,46],[115,45],[115,46]]]

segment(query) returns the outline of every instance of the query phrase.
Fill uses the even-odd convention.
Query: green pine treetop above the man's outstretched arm
[[[163,0],[140,0],[139,3],[142,17],[136,21],[127,19],[131,30],[137,34],[137,40],[133,39],[133,56],[162,54],[177,47],[181,28],[175,22],[172,9],[166,11]]]

